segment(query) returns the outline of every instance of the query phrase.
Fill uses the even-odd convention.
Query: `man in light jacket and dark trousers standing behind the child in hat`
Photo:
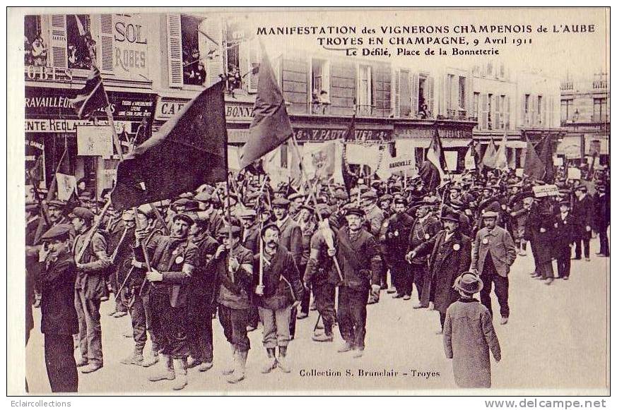
[[[476,234],[471,254],[471,271],[480,275],[484,287],[480,292],[480,300],[491,317],[493,309],[490,302],[490,291],[495,284],[495,295],[499,301],[501,324],[507,323],[510,316],[510,306],[507,304],[508,279],[510,266],[517,257],[517,247],[510,233],[498,227],[497,212],[484,212],[482,219],[484,227]]]

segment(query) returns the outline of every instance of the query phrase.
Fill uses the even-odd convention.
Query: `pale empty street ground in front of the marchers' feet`
[[[582,392],[608,385],[609,258],[597,258],[597,239],[592,240],[592,260],[572,260],[570,280],[556,279],[551,286],[530,279],[531,255],[518,256],[510,272],[510,321],[500,325],[498,302],[493,294],[495,329],[502,360],[491,357],[493,390],[555,390]],[[555,263],[553,262],[553,265]],[[556,271],[556,270],[555,270]],[[415,293],[409,301],[392,299],[382,291],[381,301],[368,306],[366,349],[362,358],[339,354],[338,328],[334,343],[310,339],[317,312],[298,321],[296,338],[290,342],[291,373],[276,369],[264,375],[266,361],[261,328],[249,333],[252,349],[246,379],[237,385],[225,382],[221,370],[230,363],[230,347],[223,329],[214,319],[214,366],[206,373],[189,369],[189,385],[182,394],[229,394],[259,392],[361,392],[398,391],[439,394],[457,389],[451,361],[445,358],[436,311],[415,310]],[[479,297],[479,296],[478,296]],[[149,382],[153,368],[120,363],[131,354],[133,340],[123,334],[131,330],[130,318],[111,318],[112,301],[102,303],[102,344],[105,366],[95,373],[79,373],[81,394],[177,394],[172,382]],[[35,309],[35,329],[26,348],[26,376],[33,394],[50,392],[40,310]],[[146,351],[149,349],[149,341]],[[338,371],[340,375],[302,376],[311,370]],[[362,375],[364,372],[377,372]],[[397,372],[396,375],[392,375]],[[351,375],[348,375],[351,373]],[[430,390],[428,392],[427,390]],[[462,392],[458,390],[457,392]],[[520,391],[518,392],[520,393]]]

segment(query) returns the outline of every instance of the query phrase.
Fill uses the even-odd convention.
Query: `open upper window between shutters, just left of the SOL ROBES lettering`
[[[69,68],[90,69],[96,62],[96,42],[92,38],[90,16],[69,14],[66,16],[66,50]]]

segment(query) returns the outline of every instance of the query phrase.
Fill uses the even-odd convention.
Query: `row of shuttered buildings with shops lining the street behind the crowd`
[[[262,58],[244,18],[188,13],[27,16],[26,167],[43,155],[49,184],[66,147],[64,171],[85,179],[97,195],[112,186],[119,157],[109,146],[106,114],[77,119],[69,101],[83,88],[93,62],[100,68],[127,151],[140,129],[147,134],[158,130],[199,92],[224,80],[230,155],[237,155],[252,121]],[[538,140],[546,133],[556,138],[563,133],[560,84],[537,74],[510,73],[490,63],[428,71],[334,52],[286,52],[270,59],[300,150],[340,140],[355,119],[349,143],[385,158],[391,171],[413,174],[437,130],[448,170],[461,172],[472,139],[486,146],[491,139],[500,144],[507,135],[510,165],[520,168],[524,135]],[[598,112],[606,107],[598,103]],[[79,146],[86,140],[83,135],[97,130],[108,150],[84,155]],[[288,167],[289,149],[280,148],[281,167]],[[377,167],[383,171],[381,162]]]

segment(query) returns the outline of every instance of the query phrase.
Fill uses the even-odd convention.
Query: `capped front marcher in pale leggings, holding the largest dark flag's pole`
[[[150,263],[146,279],[151,285],[148,292],[152,331],[162,357],[157,373],[148,380],[175,380],[174,390],[182,390],[188,383],[188,285],[199,262],[198,249],[189,241],[193,224],[189,215],[177,214],[172,219],[170,235],[155,236],[145,246]],[[140,270],[147,269],[146,255],[139,246],[146,239],[146,231],[136,229],[135,237],[137,243],[132,263]]]

